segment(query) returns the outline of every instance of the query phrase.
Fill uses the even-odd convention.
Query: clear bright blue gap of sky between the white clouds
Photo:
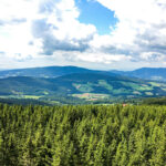
[[[114,11],[94,0],[75,0],[75,2],[80,9],[80,22],[94,24],[101,35],[111,33],[111,27],[114,28],[117,23]]]

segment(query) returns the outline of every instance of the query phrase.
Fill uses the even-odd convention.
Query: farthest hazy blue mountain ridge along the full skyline
[[[97,73],[111,76],[122,75],[144,80],[166,81],[166,68],[142,68],[134,71],[117,71],[117,70],[100,71],[100,70],[89,70],[79,66],[44,66],[44,68],[0,71],[0,77],[1,79],[9,76],[58,77],[73,73]]]

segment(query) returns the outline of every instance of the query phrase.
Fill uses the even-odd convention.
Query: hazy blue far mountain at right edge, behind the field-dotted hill
[[[128,72],[124,71],[111,71],[111,72],[145,80],[166,81],[166,68],[142,68]]]

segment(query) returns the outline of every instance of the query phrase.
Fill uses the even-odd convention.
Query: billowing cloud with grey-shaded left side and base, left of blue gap
[[[77,21],[79,10],[74,0],[42,1],[42,18],[32,24],[33,35],[42,39],[43,54],[52,55],[58,50],[85,51],[96,29]],[[52,8],[53,7],[53,8]]]

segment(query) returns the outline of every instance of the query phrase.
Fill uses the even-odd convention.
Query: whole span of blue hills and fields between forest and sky
[[[49,66],[0,71],[0,97],[59,102],[60,97],[97,101],[164,96],[166,83],[151,80],[155,79],[153,70],[156,69],[121,72]],[[165,69],[158,69],[154,75],[163,75],[160,81],[164,81],[164,72]]]

